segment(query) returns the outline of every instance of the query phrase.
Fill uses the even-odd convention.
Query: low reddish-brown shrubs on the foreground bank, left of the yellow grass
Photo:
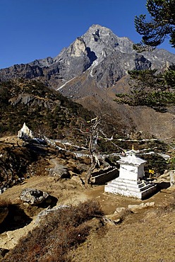
[[[4,261],[66,261],[68,249],[85,241],[90,227],[85,223],[102,217],[99,203],[89,201],[76,207],[64,207],[49,214],[32,232],[20,240]]]

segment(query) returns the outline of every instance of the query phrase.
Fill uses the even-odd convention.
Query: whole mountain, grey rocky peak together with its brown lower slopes
[[[133,129],[144,130],[160,137],[161,134],[167,135],[167,132],[163,124],[159,125],[160,115],[157,116],[152,108],[133,109],[117,105],[114,98],[115,93],[129,89],[128,70],[164,70],[174,61],[175,55],[166,50],[156,49],[138,54],[128,38],[119,38],[109,28],[92,25],[56,57],[1,69],[0,79],[40,79],[95,113],[108,113],[112,125],[121,123],[127,132]],[[155,123],[154,128],[149,121],[150,116]],[[174,108],[161,115],[161,118],[173,130]]]

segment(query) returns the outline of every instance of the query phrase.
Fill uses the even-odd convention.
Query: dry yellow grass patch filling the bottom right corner
[[[102,236],[92,232],[69,256],[72,262],[174,262],[174,247],[175,212],[149,211],[138,222],[108,227]]]

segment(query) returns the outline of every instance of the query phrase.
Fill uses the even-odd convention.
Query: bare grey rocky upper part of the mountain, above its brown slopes
[[[119,38],[109,28],[92,25],[87,32],[64,48],[56,57],[36,59],[0,70],[1,81],[13,78],[44,79],[55,87],[89,70],[100,88],[114,85],[132,69],[164,69],[175,55],[166,50],[144,52],[133,50],[133,42]]]

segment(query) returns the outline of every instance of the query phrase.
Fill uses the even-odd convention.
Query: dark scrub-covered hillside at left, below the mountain
[[[63,138],[92,116],[83,106],[44,86],[41,81],[3,82],[0,94],[1,137],[5,133],[17,134],[25,122],[35,133]]]

